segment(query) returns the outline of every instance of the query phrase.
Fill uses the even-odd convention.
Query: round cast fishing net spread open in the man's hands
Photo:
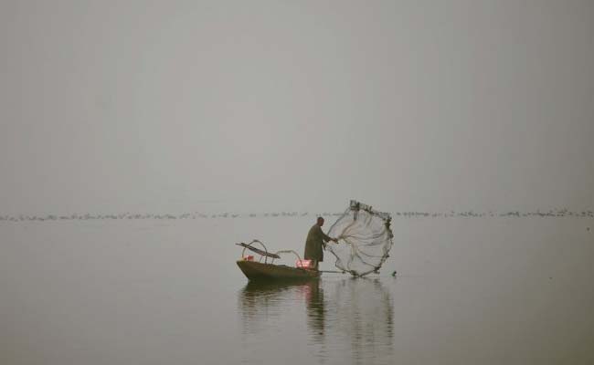
[[[390,214],[351,201],[345,214],[330,227],[328,235],[338,238],[326,250],[336,256],[335,266],[353,276],[378,272],[392,248]]]

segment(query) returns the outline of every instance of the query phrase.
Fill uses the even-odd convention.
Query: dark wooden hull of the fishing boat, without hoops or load
[[[239,260],[237,264],[249,280],[311,280],[321,275],[317,270],[263,264],[256,261]]]

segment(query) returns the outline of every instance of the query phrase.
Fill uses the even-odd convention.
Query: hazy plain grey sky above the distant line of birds
[[[594,203],[590,1],[5,0],[0,25],[0,213]]]

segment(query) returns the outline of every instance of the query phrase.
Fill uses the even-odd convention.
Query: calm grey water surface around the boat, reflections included
[[[2,223],[0,363],[594,361],[591,218],[402,218],[379,276],[248,284],[233,244],[311,220]]]

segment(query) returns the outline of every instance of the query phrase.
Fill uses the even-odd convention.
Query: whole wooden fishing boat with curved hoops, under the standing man
[[[253,244],[260,244],[264,250],[260,250]],[[241,259],[237,261],[241,272],[248,277],[250,281],[264,281],[264,280],[311,280],[320,277],[321,273],[318,270],[292,267],[286,265],[274,265],[274,260],[281,258],[280,254],[291,253],[297,256],[298,262],[301,257],[292,250],[278,251],[275,254],[268,252],[268,249],[260,241],[254,240],[248,245],[241,243],[237,244],[243,247]],[[245,255],[246,249],[260,255],[260,260],[255,261],[252,255]],[[264,262],[262,262],[262,259]],[[270,263],[268,262],[270,259]]]

